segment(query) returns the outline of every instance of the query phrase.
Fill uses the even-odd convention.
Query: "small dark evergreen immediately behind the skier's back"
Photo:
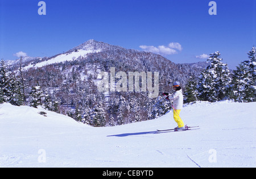
[[[184,102],[189,103],[193,101],[197,101],[197,80],[195,77],[189,77],[187,84],[184,89]]]

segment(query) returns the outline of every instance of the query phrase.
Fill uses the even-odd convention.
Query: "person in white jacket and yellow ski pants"
[[[166,99],[172,100],[174,105],[172,108],[174,109],[174,120],[177,123],[177,127],[175,131],[185,131],[187,130],[187,125],[184,126],[183,120],[180,118],[180,111],[183,107],[183,94],[180,86],[180,82],[174,82],[173,88],[175,93],[172,97],[170,97],[169,93],[163,93],[163,95],[167,95]]]

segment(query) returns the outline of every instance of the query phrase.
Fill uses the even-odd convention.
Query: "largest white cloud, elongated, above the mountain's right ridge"
[[[152,45],[151,46],[141,45],[139,47],[142,48],[144,51],[157,53],[159,55],[172,55],[177,53],[176,49],[179,51],[182,50],[182,47],[179,43],[173,43],[173,42],[170,43],[168,47],[164,45],[159,45],[158,47],[155,47]]]

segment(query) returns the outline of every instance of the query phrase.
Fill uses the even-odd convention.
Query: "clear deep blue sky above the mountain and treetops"
[[[44,57],[89,39],[160,53],[175,63],[221,52],[229,68],[256,45],[256,0],[0,0],[0,58]],[[201,59],[200,59],[201,58]]]

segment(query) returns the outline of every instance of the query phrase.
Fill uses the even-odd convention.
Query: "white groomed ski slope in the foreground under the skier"
[[[176,127],[170,113],[144,122],[89,127],[42,108],[0,105],[0,167],[255,167],[256,103],[197,102]],[[38,114],[44,111],[47,116]]]

